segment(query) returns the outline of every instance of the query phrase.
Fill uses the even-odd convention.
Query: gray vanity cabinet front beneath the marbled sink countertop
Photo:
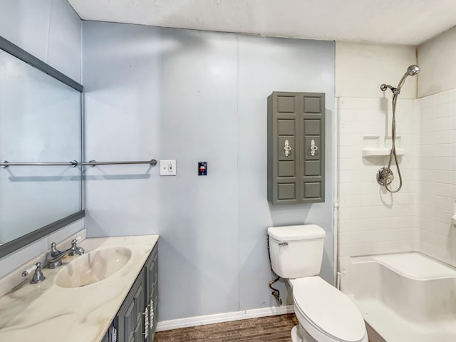
[[[154,341],[157,325],[157,285],[155,246],[113,321],[118,342]],[[109,337],[108,341],[110,342]]]

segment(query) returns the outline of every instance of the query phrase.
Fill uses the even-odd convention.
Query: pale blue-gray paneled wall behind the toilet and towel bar
[[[160,321],[275,306],[271,225],[320,224],[333,281],[333,42],[86,21],[83,84],[86,159],[177,160],[175,177],[145,165],[86,174],[90,236],[160,234]],[[274,90],[326,93],[326,203],[266,200]]]

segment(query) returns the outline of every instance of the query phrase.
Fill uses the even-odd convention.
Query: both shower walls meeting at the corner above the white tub
[[[385,94],[386,103],[379,86],[395,86],[407,66],[417,63],[415,48],[336,43],[340,257],[417,250],[456,266],[451,225],[456,200],[456,71],[446,67],[456,53],[455,39],[452,28],[417,48],[422,71],[418,78],[408,78],[408,88],[398,100],[404,185],[392,197],[375,181],[379,162],[385,165],[387,158],[363,158],[363,136],[390,132],[390,93]],[[363,77],[367,86],[357,87]],[[417,79],[420,98],[412,100]],[[397,177],[394,168],[393,172]]]

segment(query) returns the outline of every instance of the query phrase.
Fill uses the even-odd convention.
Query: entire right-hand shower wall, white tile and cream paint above
[[[421,241],[424,253],[456,266],[456,28],[418,46],[422,140]]]

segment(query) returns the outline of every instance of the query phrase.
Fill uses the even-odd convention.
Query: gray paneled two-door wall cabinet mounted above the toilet
[[[274,91],[267,130],[269,202],[324,202],[325,94]]]

